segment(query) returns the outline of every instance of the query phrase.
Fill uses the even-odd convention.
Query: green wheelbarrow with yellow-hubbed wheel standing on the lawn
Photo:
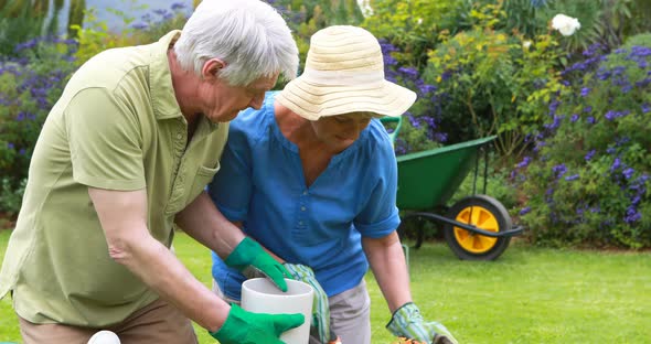
[[[386,117],[382,122],[394,123],[392,142],[399,131],[402,118]],[[391,125],[389,125],[391,126]],[[442,223],[442,233],[452,252],[465,260],[494,260],[509,247],[511,237],[522,234],[522,226],[513,227],[511,216],[500,201],[485,195],[488,179],[487,146],[495,137],[487,137],[431,150],[396,157],[398,190],[396,204],[403,212],[398,234],[410,218]],[[482,154],[483,152],[483,154]],[[480,158],[483,155],[483,190],[477,193]],[[472,195],[448,206],[459,185],[473,171]],[[445,211],[445,215],[434,209]],[[416,244],[423,245],[424,232],[416,228]],[[403,245],[407,262],[409,250]]]

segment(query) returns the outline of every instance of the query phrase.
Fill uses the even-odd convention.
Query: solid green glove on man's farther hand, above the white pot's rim
[[[270,279],[278,289],[287,291],[285,277],[289,278],[289,271],[267,254],[260,244],[246,237],[233,249],[224,262],[239,270],[244,276],[264,275]]]

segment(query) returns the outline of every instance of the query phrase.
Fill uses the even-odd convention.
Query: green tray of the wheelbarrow
[[[479,148],[494,139],[491,136],[397,157],[398,208],[430,211],[446,205],[476,168]]]

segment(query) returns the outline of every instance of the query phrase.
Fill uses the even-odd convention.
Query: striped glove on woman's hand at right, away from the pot
[[[433,344],[458,344],[457,340],[441,323],[426,322],[418,307],[407,302],[397,309],[386,329],[395,336]]]

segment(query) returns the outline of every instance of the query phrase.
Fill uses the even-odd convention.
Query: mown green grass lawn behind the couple
[[[0,230],[0,257],[9,230]],[[179,234],[177,255],[206,286],[210,256]],[[445,244],[412,249],[412,289],[426,319],[462,344],[649,343],[651,252],[554,250],[514,243],[498,261],[458,260]],[[373,276],[373,343],[394,340]],[[9,298],[0,302],[0,342],[20,342]],[[200,343],[214,343],[196,327]],[[354,344],[354,343],[349,343]]]

